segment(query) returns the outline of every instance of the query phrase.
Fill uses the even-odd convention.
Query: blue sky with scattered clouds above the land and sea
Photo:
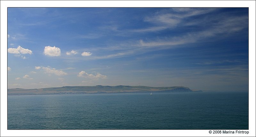
[[[248,91],[248,8],[8,8],[8,89]]]

